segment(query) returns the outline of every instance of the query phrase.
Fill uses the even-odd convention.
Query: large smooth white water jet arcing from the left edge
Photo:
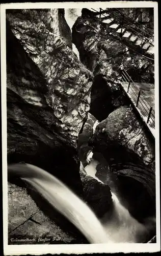
[[[90,243],[110,242],[93,211],[59,179],[31,164],[12,164],[8,175],[15,175],[34,187],[53,208],[81,231]]]

